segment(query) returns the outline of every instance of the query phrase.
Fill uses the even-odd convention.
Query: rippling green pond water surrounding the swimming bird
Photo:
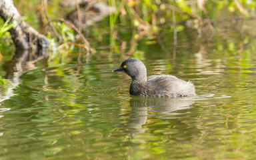
[[[104,47],[89,63],[35,63],[0,103],[1,159],[254,159],[255,47],[229,33],[211,45],[179,33],[175,58],[147,39],[127,55],[193,81],[190,98],[129,95],[130,77],[111,72],[124,58]]]

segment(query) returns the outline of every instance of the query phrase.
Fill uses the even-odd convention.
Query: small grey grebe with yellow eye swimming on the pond
[[[141,97],[195,96],[195,87],[189,81],[183,81],[173,75],[151,75],[147,77],[147,69],[139,59],[126,59],[120,67],[113,71],[122,71],[131,77],[131,95]]]

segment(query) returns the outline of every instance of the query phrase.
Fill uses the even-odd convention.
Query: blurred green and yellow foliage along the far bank
[[[77,5],[73,7],[63,5],[67,2],[70,3],[70,1],[60,0],[14,1],[21,15],[29,17],[30,20],[26,20],[27,23],[51,39],[52,55],[55,55],[56,51],[63,54],[63,52],[71,53],[74,50],[83,53],[86,50],[86,48],[81,50],[84,42],[77,31],[65,21],[59,21],[59,19],[66,19],[71,11],[78,9]],[[158,43],[164,52],[173,52],[177,45],[177,33],[182,34],[187,29],[189,31],[184,33],[194,34],[193,36],[200,41],[203,37],[207,39],[205,41],[209,41],[216,33],[217,25],[223,21],[230,20],[235,23],[241,19],[253,18],[256,7],[256,2],[252,0],[109,0],[100,2],[111,6],[110,16],[83,28],[77,25],[76,27],[96,50],[109,47],[111,54],[123,53],[127,56],[140,52],[137,50],[137,42],[144,38],[152,39],[152,43]],[[89,12],[90,4],[95,3],[99,1],[89,1],[85,11]],[[80,5],[79,9],[81,7],[83,6]],[[101,14],[100,11],[92,10],[85,21],[89,21],[97,14]],[[73,17],[73,19],[77,18]],[[1,54],[11,55],[14,52],[13,42],[9,33],[6,32],[11,25],[5,25],[3,21],[0,25],[3,31],[0,34]],[[249,40],[243,37],[242,41],[247,43]],[[229,44],[229,47],[233,48],[236,45]]]

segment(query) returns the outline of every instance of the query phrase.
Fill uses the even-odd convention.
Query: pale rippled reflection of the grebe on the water
[[[124,126],[130,133],[141,133],[144,132],[141,126],[147,123],[148,117],[165,116],[166,119],[175,119],[175,115],[179,115],[176,111],[189,109],[193,103],[195,101],[188,98],[132,97],[131,112],[127,113],[129,118]]]

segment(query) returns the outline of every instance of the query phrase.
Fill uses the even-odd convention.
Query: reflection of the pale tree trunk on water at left
[[[36,69],[37,67],[35,67],[34,63],[41,59],[45,59],[46,62],[47,58],[48,52],[44,49],[37,51],[16,49],[13,59],[3,65],[3,69],[6,73],[3,79],[8,81],[8,84],[0,88],[0,102],[14,95],[13,89],[21,83],[19,77],[21,77],[23,73]],[[47,63],[45,63],[45,66],[46,65]]]

